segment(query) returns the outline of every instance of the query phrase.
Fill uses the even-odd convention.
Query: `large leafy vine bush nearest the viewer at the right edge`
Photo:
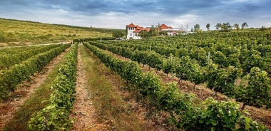
[[[236,100],[245,105],[253,105],[257,108],[270,104],[270,79],[267,73],[254,67],[250,74],[246,75],[237,89]]]

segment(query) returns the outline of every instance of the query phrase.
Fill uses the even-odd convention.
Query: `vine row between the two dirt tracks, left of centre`
[[[31,115],[30,130],[70,130],[72,120],[69,114],[75,102],[76,63],[78,44],[71,47],[66,56],[66,63],[58,69],[58,76],[51,86],[53,93],[45,108]]]

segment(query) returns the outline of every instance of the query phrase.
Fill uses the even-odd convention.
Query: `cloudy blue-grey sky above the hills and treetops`
[[[271,26],[271,0],[0,0],[0,17],[73,26],[158,25],[190,30],[196,23]]]

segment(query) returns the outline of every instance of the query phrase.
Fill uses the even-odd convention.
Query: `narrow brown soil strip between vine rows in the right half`
[[[124,58],[123,56],[119,56],[115,53],[112,53],[111,51],[107,51],[107,52],[111,53],[116,58],[121,58],[124,61],[131,61],[129,58]],[[163,71],[156,71],[155,68],[150,68],[149,66],[143,66],[143,64],[140,64],[140,67],[142,68],[144,73],[153,71],[154,73],[159,75],[161,80],[163,80],[162,82],[170,83],[170,82],[175,81],[176,83],[178,83],[179,81],[178,78],[167,75],[163,73]],[[210,90],[209,88],[205,88],[204,85],[197,85],[195,90],[193,89],[193,86],[194,86],[194,83],[190,83],[190,81],[183,81],[182,83],[178,83],[178,87],[180,90],[182,90],[185,93],[194,93],[197,96],[197,98],[199,98],[200,100],[205,100],[208,97],[213,97],[215,100],[219,100],[219,101],[221,100],[235,101],[233,99],[227,98],[227,96],[221,93],[218,93],[218,95],[214,95],[215,92],[213,90]],[[240,107],[242,107],[242,103],[239,103],[239,105]],[[253,120],[257,122],[262,122],[271,130],[271,111],[270,110],[259,109],[259,108],[255,108],[249,105],[247,105],[245,109],[250,113],[250,115],[248,115],[249,117],[251,117]]]

